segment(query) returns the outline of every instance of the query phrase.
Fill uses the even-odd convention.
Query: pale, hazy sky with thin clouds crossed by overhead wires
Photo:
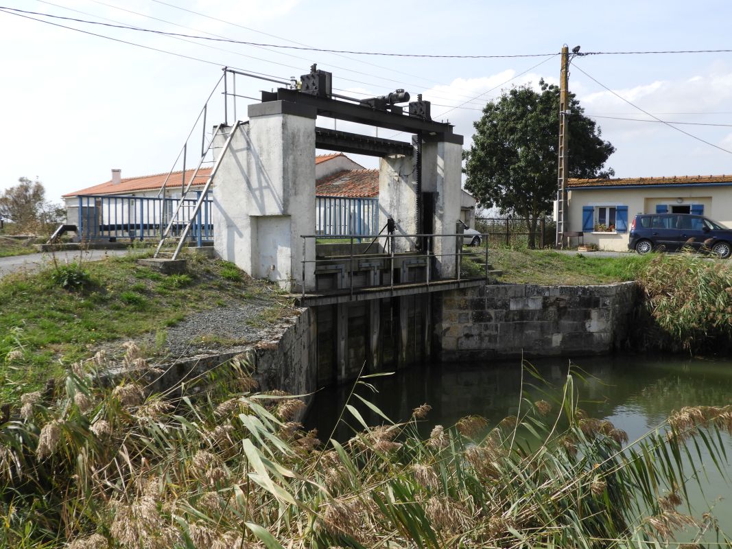
[[[39,179],[51,201],[108,181],[112,168],[121,169],[123,178],[180,168],[176,157],[193,131],[190,167],[203,136],[203,121],[194,123],[212,90],[206,130],[223,122],[222,90],[214,89],[223,66],[288,81],[317,63],[333,73],[340,94],[369,97],[397,88],[412,97],[422,93],[433,102],[433,119],[455,124],[468,147],[485,102],[510,86],[537,86],[541,78],[559,82],[564,44],[580,45],[580,52],[732,49],[724,39],[732,3],[712,0],[0,0],[0,6],[269,45],[453,56],[545,54],[364,56],[169,37],[0,11],[0,190],[23,176]],[[237,77],[236,93],[258,97],[279,85]],[[569,88],[616,147],[608,160],[616,176],[732,173],[732,53],[580,56],[572,61]],[[237,118],[246,119],[250,102],[236,100]],[[633,105],[665,122],[687,124],[673,129],[637,122],[653,118]],[[233,117],[230,102],[230,122]],[[318,120],[318,125],[332,127],[333,121]],[[356,128],[338,123],[337,129]],[[389,130],[378,135],[409,141]],[[356,160],[377,167],[377,159]]]

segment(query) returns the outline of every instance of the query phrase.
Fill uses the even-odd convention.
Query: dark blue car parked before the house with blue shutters
[[[692,214],[641,214],[630,224],[630,250],[642,254],[682,247],[709,251],[726,259],[732,254],[732,230]]]

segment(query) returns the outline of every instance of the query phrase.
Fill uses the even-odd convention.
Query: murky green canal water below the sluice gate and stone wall
[[[630,441],[654,429],[683,406],[725,406],[732,403],[732,361],[679,356],[620,355],[572,359],[538,359],[531,365],[548,385],[523,372],[524,396],[531,400],[545,398],[542,391],[559,397],[560,389],[572,367],[575,388],[580,395],[580,408],[590,417],[608,419],[628,433]],[[406,420],[413,408],[422,403],[432,411],[422,423],[425,436],[435,425],[445,427],[469,414],[477,414],[495,425],[504,417],[518,413],[522,387],[520,360],[491,362],[441,363],[411,367],[392,376],[370,378],[378,392],[359,384],[356,392],[376,404],[395,421]],[[529,386],[532,384],[533,386]],[[308,429],[317,428],[326,440],[334,430],[334,438],[344,440],[353,430],[345,422],[335,426],[346,404],[352,385],[322,389],[315,395],[305,419]],[[367,422],[378,425],[383,420],[363,406],[358,399],[349,403],[359,409]],[[355,421],[343,415],[351,425]],[[722,436],[730,463],[722,464],[732,472],[732,438]],[[706,451],[706,450],[704,450]],[[708,457],[708,456],[707,456]],[[732,485],[722,477],[711,459],[703,460],[702,490],[690,485],[690,503],[696,518],[714,504],[713,514],[720,527],[732,533]],[[705,478],[706,475],[706,478]],[[684,509],[679,509],[684,512]],[[679,534],[678,541],[690,541],[693,532]],[[714,541],[707,534],[705,541]]]

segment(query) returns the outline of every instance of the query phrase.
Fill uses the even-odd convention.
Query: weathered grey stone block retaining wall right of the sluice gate
[[[635,283],[485,285],[436,299],[442,360],[605,354],[625,346]]]

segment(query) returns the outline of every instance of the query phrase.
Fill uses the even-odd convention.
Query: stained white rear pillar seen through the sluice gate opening
[[[381,158],[378,166],[378,228],[393,217],[394,234],[417,232],[417,170],[415,155]],[[394,239],[395,253],[415,249],[416,239]]]

